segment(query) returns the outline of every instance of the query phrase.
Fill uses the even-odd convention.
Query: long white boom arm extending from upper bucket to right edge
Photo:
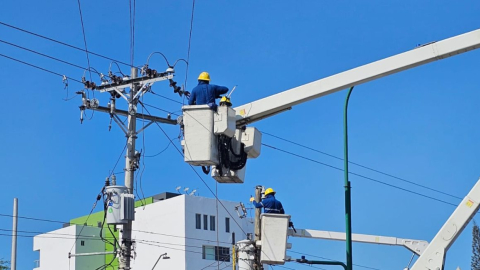
[[[297,104],[480,47],[480,29],[433,42],[364,66],[301,85],[235,108],[237,126],[291,109]]]

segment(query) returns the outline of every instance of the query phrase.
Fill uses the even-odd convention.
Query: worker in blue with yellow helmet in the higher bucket
[[[207,104],[212,110],[216,111],[215,99],[220,98],[220,95],[227,92],[228,88],[225,86],[210,84],[210,74],[204,71],[198,76],[198,85],[193,88],[188,99],[188,105]]]

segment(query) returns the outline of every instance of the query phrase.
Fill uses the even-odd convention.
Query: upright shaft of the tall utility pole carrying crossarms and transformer
[[[131,78],[137,78],[138,69],[132,67]],[[135,177],[136,157],[135,157],[135,140],[137,139],[137,104],[136,99],[138,85],[132,83],[130,88],[130,97],[128,102],[128,133],[127,133],[127,155],[125,156],[125,186],[129,194],[133,194],[133,181]],[[127,224],[123,225],[122,229],[122,244],[120,250],[119,269],[130,269],[130,258],[132,254],[132,221],[129,220]]]

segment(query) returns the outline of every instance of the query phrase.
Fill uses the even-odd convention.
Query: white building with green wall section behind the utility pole
[[[217,267],[217,264],[220,268],[228,268],[233,262],[232,240],[246,239],[246,233],[253,232],[251,221],[239,218],[235,210],[239,203],[236,202],[163,193],[148,198],[147,203],[135,209],[132,238],[136,256],[131,263],[132,269],[152,269],[164,253],[170,259],[158,260],[155,269],[198,270]],[[103,212],[96,214],[96,220],[94,216],[90,217],[89,225],[97,224],[98,217],[101,217],[101,224]],[[111,259],[98,255],[68,258],[70,249],[72,254],[111,250],[111,246],[101,241],[98,227],[85,226],[82,236],[75,242],[74,236],[81,227],[72,225],[59,229],[47,234],[48,238],[45,234],[35,236],[34,250],[40,252],[39,267],[35,270],[94,270],[110,263]],[[53,233],[65,235],[51,238]],[[112,265],[116,266],[117,262]]]

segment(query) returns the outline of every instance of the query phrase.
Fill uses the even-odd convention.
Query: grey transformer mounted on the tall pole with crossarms
[[[107,224],[125,224],[135,220],[135,196],[124,186],[107,186]]]

